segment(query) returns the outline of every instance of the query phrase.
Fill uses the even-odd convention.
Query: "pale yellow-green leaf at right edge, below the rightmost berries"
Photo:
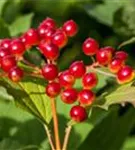
[[[133,83],[128,83],[125,85],[121,85],[111,94],[108,94],[104,98],[98,99],[99,103],[101,100],[104,100],[104,104],[101,105],[102,108],[108,109],[110,105],[113,104],[122,104],[131,103],[135,106],[135,86]]]

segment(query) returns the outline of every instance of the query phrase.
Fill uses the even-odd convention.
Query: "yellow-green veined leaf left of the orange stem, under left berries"
[[[51,120],[49,98],[44,93],[45,81],[40,78],[25,77],[19,84],[4,78],[0,85],[5,87],[8,94],[12,95],[16,104],[30,112],[44,123]]]

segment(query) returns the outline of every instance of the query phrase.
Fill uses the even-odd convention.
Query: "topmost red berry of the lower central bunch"
[[[74,63],[72,63],[69,67],[69,72],[75,78],[81,78],[86,72],[86,68],[83,61],[75,61]]]

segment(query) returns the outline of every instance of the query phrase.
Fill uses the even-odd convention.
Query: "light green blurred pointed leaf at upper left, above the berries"
[[[10,26],[10,34],[11,36],[16,36],[18,34],[26,32],[32,22],[33,13],[18,17]]]

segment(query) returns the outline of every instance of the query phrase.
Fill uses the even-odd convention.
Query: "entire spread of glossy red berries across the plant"
[[[62,72],[59,72],[56,65],[60,49],[67,44],[69,37],[76,35],[77,31],[78,26],[73,20],[66,21],[58,28],[55,20],[46,18],[37,29],[29,29],[19,38],[3,39],[0,42],[0,66],[12,81],[20,81],[24,73],[18,62],[26,50],[37,46],[46,60],[40,71],[48,81],[46,94],[50,98],[60,94],[61,100],[66,104],[77,102],[78,104],[71,108],[70,116],[73,120],[82,122],[87,119],[87,106],[95,100],[95,93],[92,90],[98,83],[98,77],[95,72],[88,70],[89,67],[85,66],[83,61],[73,62]],[[98,42],[92,38],[84,41],[82,49],[87,56],[95,57],[96,62],[92,64],[93,66],[95,64],[95,67],[107,66],[110,72],[116,74],[118,83],[127,83],[134,78],[134,70],[125,65],[128,55],[124,51],[115,51],[109,46],[99,48]],[[79,78],[82,81],[82,90],[78,91],[74,84]]]

